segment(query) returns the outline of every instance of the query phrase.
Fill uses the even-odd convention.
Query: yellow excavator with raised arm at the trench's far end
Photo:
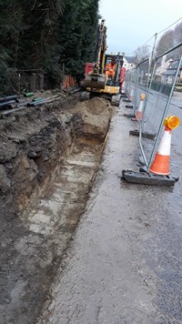
[[[106,54],[106,25],[102,19],[98,26],[96,59],[94,63],[86,63],[85,80],[82,99],[88,99],[93,96],[102,96],[111,100],[111,105],[119,106],[120,89],[124,80],[125,69],[123,66],[123,56],[120,53],[114,55]],[[109,62],[115,60],[115,70],[112,76],[106,78],[106,66]]]

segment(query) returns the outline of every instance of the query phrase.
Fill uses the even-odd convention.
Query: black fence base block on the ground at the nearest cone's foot
[[[169,176],[159,176],[146,172],[135,172],[131,170],[123,170],[122,177],[131,183],[149,185],[149,186],[161,186],[172,187],[175,185],[177,178]]]

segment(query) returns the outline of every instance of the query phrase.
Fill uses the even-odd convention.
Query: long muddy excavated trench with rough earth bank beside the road
[[[63,98],[1,120],[0,323],[34,323],[86,207],[112,107]]]

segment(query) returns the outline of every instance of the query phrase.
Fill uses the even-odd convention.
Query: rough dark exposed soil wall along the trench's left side
[[[64,109],[67,103],[60,105]],[[77,131],[76,124],[81,126],[81,116],[74,114],[64,123],[55,116],[55,109],[26,108],[1,121],[1,210],[9,210],[9,204],[15,211],[23,210],[71,147],[72,132]]]

